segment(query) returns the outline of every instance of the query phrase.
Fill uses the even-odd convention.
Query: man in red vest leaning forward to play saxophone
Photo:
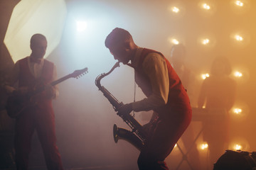
[[[146,96],[124,104],[119,113],[154,111],[144,125],[148,135],[137,161],[139,169],[168,169],[164,159],[191,123],[191,105],[181,80],[161,52],[137,46],[127,30],[114,28],[105,46],[114,60],[134,68],[134,79]]]

